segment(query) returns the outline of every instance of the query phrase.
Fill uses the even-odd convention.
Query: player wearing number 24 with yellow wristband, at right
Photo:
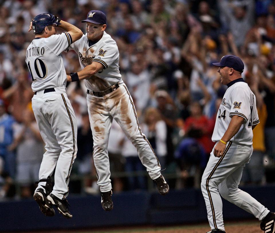
[[[252,130],[260,122],[255,95],[241,78],[244,64],[239,57],[226,55],[213,65],[219,66],[221,84],[228,88],[217,112],[212,135],[212,141],[216,144],[201,181],[211,227],[207,233],[225,232],[220,195],[258,218],[265,233],[274,233],[274,212],[238,188],[243,167],[249,162],[253,151]]]

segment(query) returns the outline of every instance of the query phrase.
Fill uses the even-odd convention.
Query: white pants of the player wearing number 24
[[[238,188],[243,167],[249,162],[253,147],[237,145],[230,141],[227,143],[224,155],[220,158],[214,156],[213,150],[201,181],[211,229],[224,230],[223,204],[220,195],[262,220],[269,210]]]

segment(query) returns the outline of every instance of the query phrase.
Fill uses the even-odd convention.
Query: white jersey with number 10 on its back
[[[26,51],[26,63],[32,76],[32,90],[66,86],[67,76],[61,52],[72,44],[68,32],[36,37]]]

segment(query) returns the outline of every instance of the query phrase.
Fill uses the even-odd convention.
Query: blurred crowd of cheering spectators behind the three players
[[[117,42],[122,79],[162,172],[179,174],[170,180],[171,188],[199,187],[226,91],[211,64],[226,54],[243,60],[242,77],[256,96],[260,118],[241,183],[275,181],[275,1],[0,0],[0,199],[12,193],[32,196],[44,153],[25,64],[26,48],[34,38],[28,33],[30,21],[49,12],[85,33],[80,21],[92,9],[107,15],[106,32]],[[63,59],[67,72],[80,70],[78,54],[64,52]],[[68,83],[67,94],[78,122],[72,174],[83,177],[86,193],[98,193],[84,83]],[[108,150],[112,174],[144,171],[135,148],[115,122]],[[115,192],[146,189],[145,178],[111,177]]]

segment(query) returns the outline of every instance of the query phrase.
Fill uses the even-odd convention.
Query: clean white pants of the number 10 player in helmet
[[[38,91],[32,98],[32,109],[46,144],[39,179],[47,179],[55,168],[52,194],[62,199],[68,196],[69,176],[76,158],[77,124],[65,87],[54,89],[55,92],[45,94],[44,90]],[[40,182],[37,189],[45,184]]]

